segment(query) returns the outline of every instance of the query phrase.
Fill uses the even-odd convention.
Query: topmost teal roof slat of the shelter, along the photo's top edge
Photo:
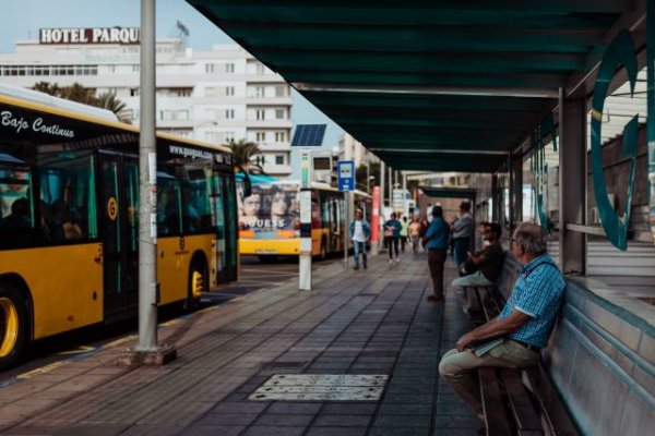
[[[353,24],[430,24],[474,23],[498,26],[575,26],[598,25],[605,16],[630,10],[622,0],[559,1],[276,1],[267,0],[187,0],[207,16],[221,20],[275,20],[284,24],[353,23]],[[215,19],[217,20],[217,19]],[[605,23],[605,25],[609,25]]]

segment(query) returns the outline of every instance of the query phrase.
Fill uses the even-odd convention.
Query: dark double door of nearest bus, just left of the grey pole
[[[139,302],[139,161],[102,155],[105,319],[133,315]]]

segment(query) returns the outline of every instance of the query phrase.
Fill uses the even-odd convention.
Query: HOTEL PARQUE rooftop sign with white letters
[[[139,27],[40,28],[39,44],[139,44]]]

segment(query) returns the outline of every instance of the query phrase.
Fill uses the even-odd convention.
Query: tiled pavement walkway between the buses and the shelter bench
[[[449,261],[449,263],[452,261]],[[454,274],[448,270],[449,279]],[[297,282],[168,323],[178,359],[123,370],[130,336],[0,388],[3,435],[472,435],[480,425],[439,379],[438,362],[469,328],[449,290],[431,291],[425,255],[368,270],[329,265]],[[274,374],[384,374],[379,401],[251,401]]]

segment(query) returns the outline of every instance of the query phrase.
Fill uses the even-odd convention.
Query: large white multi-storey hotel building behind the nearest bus
[[[110,92],[127,104],[138,125],[140,47],[134,34],[112,40],[111,29],[52,31],[41,29],[38,40],[16,41],[15,53],[0,53],[0,81],[23,87],[78,82],[96,94]],[[257,142],[266,173],[290,174],[293,100],[279,75],[237,45],[194,51],[182,39],[168,38],[156,46],[158,130],[213,144]]]

